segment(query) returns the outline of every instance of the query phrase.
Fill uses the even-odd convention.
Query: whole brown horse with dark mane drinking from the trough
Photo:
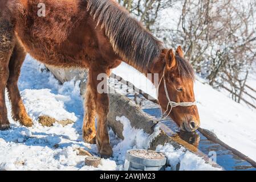
[[[45,16],[38,15],[39,3],[46,7]],[[121,61],[141,73],[159,74],[160,106],[182,130],[194,131],[200,125],[194,105],[194,73],[182,49],[174,53],[162,48],[161,42],[114,0],[0,1],[1,130],[10,127],[6,87],[13,119],[32,126],[17,86],[26,53],[55,67],[88,68],[83,138],[96,142],[101,156],[111,156],[112,148],[107,128],[109,98],[107,93],[97,92],[97,75],[109,75]]]

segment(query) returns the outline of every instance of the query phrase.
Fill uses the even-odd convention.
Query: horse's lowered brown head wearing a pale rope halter
[[[171,117],[183,131],[197,130],[200,118],[194,98],[194,72],[181,47],[176,53],[164,49],[153,67],[160,73],[158,100],[163,117]]]

